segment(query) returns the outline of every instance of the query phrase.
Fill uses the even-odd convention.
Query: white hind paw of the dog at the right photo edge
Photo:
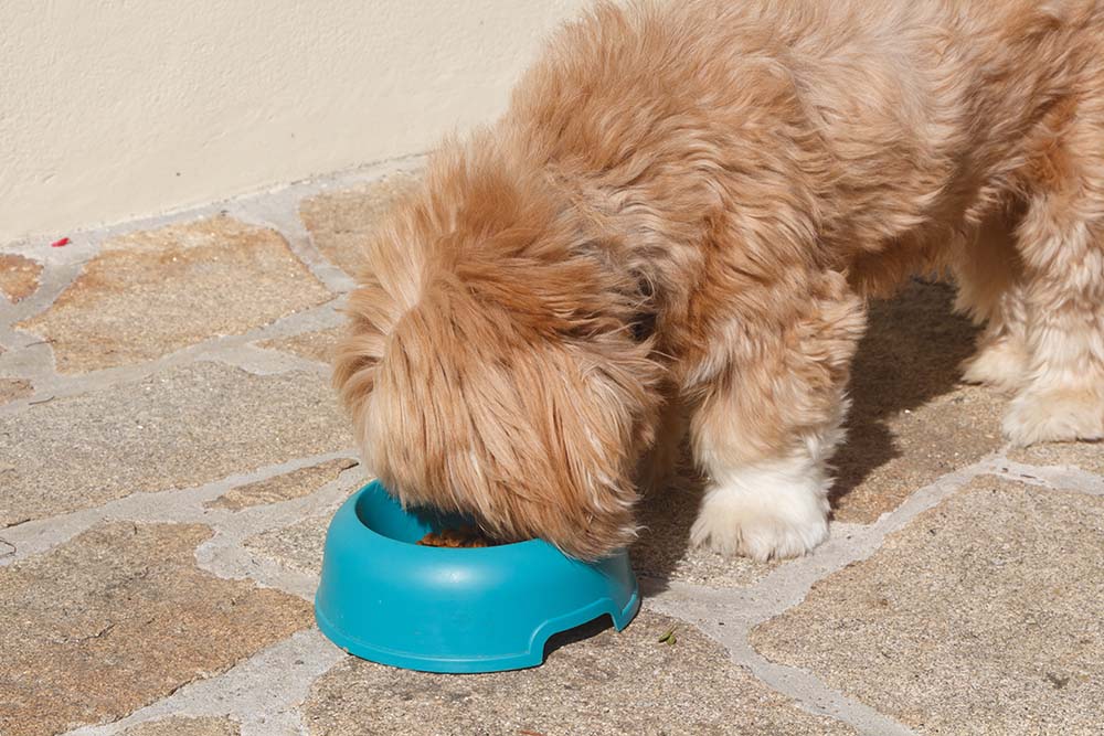
[[[1005,436],[1021,447],[1034,442],[1104,439],[1104,394],[1091,390],[1029,390],[1012,399]]]

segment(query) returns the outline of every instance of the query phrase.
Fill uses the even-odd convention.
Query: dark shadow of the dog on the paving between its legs
[[[895,298],[871,302],[852,364],[848,437],[832,461],[834,508],[874,470],[902,456],[890,419],[959,385],[958,365],[973,353],[977,329],[952,312],[954,296],[946,284],[913,279]],[[671,489],[641,501],[645,529],[631,555],[648,579],[646,589],[662,589],[686,558],[703,487],[704,479],[687,462]]]

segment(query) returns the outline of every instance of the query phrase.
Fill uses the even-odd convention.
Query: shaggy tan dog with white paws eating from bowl
[[[405,503],[598,557],[688,431],[692,540],[800,555],[909,274],[986,323],[1011,440],[1104,436],[1104,2],[602,4],[367,260],[335,380]]]

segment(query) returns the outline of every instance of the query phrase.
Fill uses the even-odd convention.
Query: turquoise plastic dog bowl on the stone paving
[[[318,628],[351,654],[426,672],[535,666],[555,633],[640,607],[624,551],[596,563],[530,540],[493,547],[415,544],[466,523],[404,510],[374,481],[338,510],[315,596]]]

